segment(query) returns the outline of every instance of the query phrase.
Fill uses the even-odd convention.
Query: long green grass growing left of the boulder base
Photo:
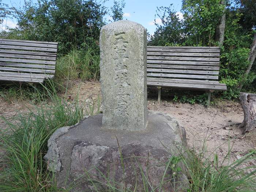
[[[67,102],[54,89],[44,87],[38,91],[40,102],[27,112],[18,112],[12,118],[0,118],[8,125],[0,130],[0,149],[4,151],[0,170],[0,191],[69,191],[57,189],[54,176],[46,171],[47,140],[63,126],[78,123],[85,114],[84,105],[78,100]],[[43,95],[47,95],[44,99]],[[88,111],[94,113],[95,106]]]

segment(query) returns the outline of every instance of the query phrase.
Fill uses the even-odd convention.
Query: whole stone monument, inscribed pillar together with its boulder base
[[[69,191],[74,192],[189,188],[184,164],[169,166],[173,156],[186,156],[185,129],[167,114],[147,112],[146,46],[146,30],[138,23],[122,20],[102,27],[103,114],[59,128],[48,140],[44,159],[60,188],[73,186]]]

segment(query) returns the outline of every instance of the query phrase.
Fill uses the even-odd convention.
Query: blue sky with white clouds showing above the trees
[[[37,2],[37,0],[33,0]],[[101,0],[97,0],[101,1]],[[114,0],[108,0],[104,5],[105,7],[113,6]],[[22,6],[24,0],[3,0],[2,3],[9,4],[10,6],[19,7]],[[179,12],[181,9],[181,0],[125,0],[125,8],[123,9],[124,12],[124,19],[132,20],[142,24],[150,34],[153,34],[155,31],[154,19],[155,19],[155,11],[157,7],[161,6],[169,6],[173,4],[174,10],[176,10],[182,18],[182,14]],[[109,16],[106,16],[109,19]],[[156,19],[158,23],[161,21]],[[7,19],[1,26],[2,29],[5,29],[5,23],[9,27],[15,27],[16,21]]]

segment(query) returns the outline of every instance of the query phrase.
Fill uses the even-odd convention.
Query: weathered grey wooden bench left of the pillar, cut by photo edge
[[[53,78],[57,42],[0,39],[0,81],[43,83]]]

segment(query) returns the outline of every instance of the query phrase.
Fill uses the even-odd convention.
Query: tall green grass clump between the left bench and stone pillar
[[[71,49],[64,56],[60,56],[56,65],[58,80],[99,79],[99,53],[97,49],[87,46],[84,49]]]

